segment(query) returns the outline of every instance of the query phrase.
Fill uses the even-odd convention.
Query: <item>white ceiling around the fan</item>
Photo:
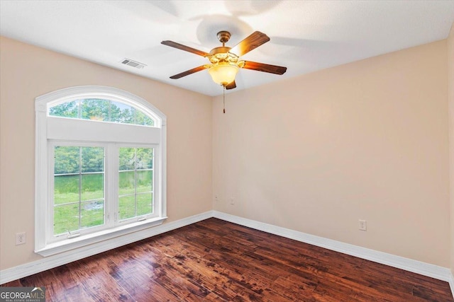
[[[170,79],[208,59],[161,45],[209,52],[260,30],[270,42],[242,59],[287,66],[278,76],[241,69],[232,91],[445,39],[454,1],[10,1],[0,0],[0,34],[115,69],[219,95],[208,71]],[[145,64],[135,69],[124,58]]]

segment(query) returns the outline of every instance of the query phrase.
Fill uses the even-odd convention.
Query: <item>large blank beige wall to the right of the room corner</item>
[[[215,98],[214,209],[450,267],[447,72],[442,40]]]

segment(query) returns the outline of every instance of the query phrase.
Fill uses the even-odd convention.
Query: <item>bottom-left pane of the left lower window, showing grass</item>
[[[54,235],[79,229],[79,203],[54,207]]]

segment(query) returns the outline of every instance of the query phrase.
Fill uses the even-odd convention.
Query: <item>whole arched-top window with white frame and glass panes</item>
[[[99,86],[42,95],[35,110],[35,252],[53,255],[166,219],[162,112]]]

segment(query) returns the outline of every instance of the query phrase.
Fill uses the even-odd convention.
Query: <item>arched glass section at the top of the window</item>
[[[155,127],[153,118],[131,105],[100,98],[71,100],[49,108],[53,117],[68,117],[79,120],[117,122]]]

